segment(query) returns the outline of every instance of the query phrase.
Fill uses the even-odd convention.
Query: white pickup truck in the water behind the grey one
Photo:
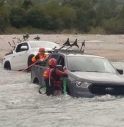
[[[59,44],[50,41],[25,41],[18,44],[15,49],[4,56],[3,67],[7,70],[23,70],[31,65],[31,59],[38,53],[39,48],[51,51],[59,48]]]

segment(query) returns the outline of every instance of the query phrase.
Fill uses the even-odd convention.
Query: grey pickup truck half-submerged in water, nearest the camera
[[[94,95],[124,95],[123,70],[116,69],[108,59],[82,54],[73,50],[58,50],[49,55],[57,64],[68,70],[67,93],[73,97],[93,97]],[[31,69],[31,81],[44,85],[43,71],[48,60]]]

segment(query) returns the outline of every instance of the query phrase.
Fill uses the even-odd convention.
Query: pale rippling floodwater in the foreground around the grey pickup
[[[0,127],[124,127],[124,97],[48,97],[38,88],[30,73],[0,64]]]

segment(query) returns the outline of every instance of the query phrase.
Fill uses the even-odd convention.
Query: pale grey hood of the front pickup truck
[[[71,72],[75,78],[82,80],[90,80],[97,82],[115,82],[124,83],[124,76],[112,73],[98,73],[98,72]]]

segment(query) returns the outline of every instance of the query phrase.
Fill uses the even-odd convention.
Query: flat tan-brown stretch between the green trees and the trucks
[[[29,40],[32,40],[36,36],[36,34],[31,34]],[[38,36],[41,40],[53,41],[60,45],[63,44],[67,38],[69,38],[72,43],[76,38],[79,43],[85,40],[85,53],[104,56],[114,61],[124,59],[124,35],[38,34]],[[13,45],[13,41],[17,41],[16,38],[22,39],[22,35],[0,35],[0,58],[3,58],[5,53],[12,49],[8,42],[11,42]]]

